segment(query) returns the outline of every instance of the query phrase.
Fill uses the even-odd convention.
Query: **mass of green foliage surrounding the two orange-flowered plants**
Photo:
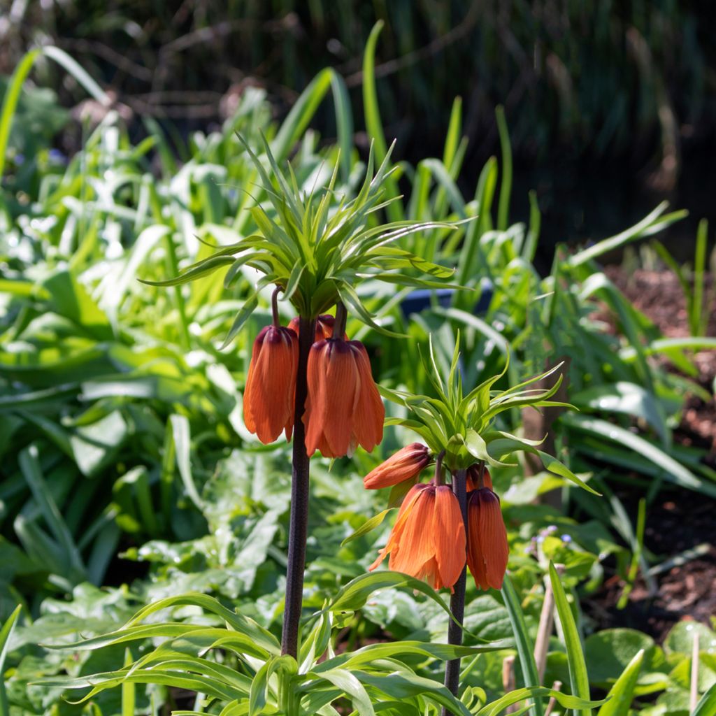
[[[368,70],[372,48],[374,43],[367,52]],[[76,69],[57,51],[44,52]],[[31,64],[21,66],[6,94],[0,156],[13,118],[13,97],[19,96]],[[101,89],[83,74],[77,77],[102,100]],[[329,89],[339,140],[323,145],[307,127]],[[370,82],[365,100],[366,123],[382,160],[382,122]],[[190,137],[181,164],[163,134],[152,132],[135,145],[110,112],[66,164],[39,166],[32,176],[7,165],[0,219],[0,254],[6,264],[0,282],[0,458],[6,475],[0,483],[0,555],[6,565],[0,575],[0,609],[6,620],[0,631],[0,669],[7,684],[0,690],[0,705],[8,704],[14,716],[108,716],[120,709],[158,713],[164,705],[178,714],[229,714],[241,712],[231,706],[233,700],[250,699],[252,693],[253,712],[258,713],[264,706],[261,694],[270,702],[271,673],[283,673],[280,662],[271,659],[284,591],[289,481],[280,466],[288,451],[285,445],[260,445],[241,418],[249,347],[269,321],[270,297],[259,291],[258,307],[232,348],[220,352],[218,345],[231,331],[237,311],[255,291],[250,268],[240,267],[228,287],[212,276],[170,291],[136,279],[161,281],[207,258],[216,246],[237,243],[256,230],[250,210],[258,174],[237,131],[260,156],[261,132],[277,161],[284,164],[290,156],[299,188],[308,192],[335,176],[334,190],[354,196],[364,166],[352,145],[347,106],[341,78],[326,70],[281,125],[271,122],[264,93],[247,89],[220,131]],[[637,480],[653,485],[644,509],[659,489],[713,496],[716,475],[701,463],[700,453],[674,445],[671,435],[683,391],[702,389],[666,372],[650,357],[667,355],[689,374],[687,349],[713,347],[714,339],[659,336],[596,263],[614,246],[657,233],[682,214],[665,213],[660,206],[619,236],[579,253],[559,252],[551,274],[542,277],[533,266],[539,234],[536,203],[529,226],[509,223],[510,145],[501,115],[498,127],[502,162],[493,159],[485,165],[473,197],[465,198],[456,184],[465,155],[459,102],[442,158],[398,170],[410,182],[410,198],[397,198],[397,183],[389,185],[396,197],[390,211],[399,221],[471,220],[456,230],[425,228],[405,236],[400,248],[454,268],[456,281],[473,291],[441,296],[442,302],[434,294],[430,306],[409,319],[401,303],[410,289],[395,291],[364,281],[360,299],[374,321],[408,338],[387,341],[357,321],[349,321],[349,334],[367,344],[376,377],[390,389],[427,396],[434,388],[420,363],[418,344],[431,335],[438,372],[450,372],[460,332],[463,382],[479,384],[506,369],[500,390],[542,372],[549,357],[569,355],[569,399],[581,412],[559,416],[554,429],[558,456],[570,474],[606,492],[623,479],[624,470],[632,470],[641,475]],[[410,276],[410,269],[405,272]],[[480,296],[484,306],[475,314]],[[595,309],[605,305],[616,333],[606,332],[594,317]],[[400,423],[407,412],[397,407],[393,417]],[[522,422],[518,410],[500,415],[500,429],[513,434]],[[314,616],[305,631],[308,651],[301,687],[322,678],[308,674],[345,667],[331,649],[338,652],[347,644],[353,654],[373,659],[382,653],[380,644],[371,646],[376,639],[415,642],[412,655],[405,657],[409,677],[395,680],[400,687],[390,697],[415,699],[412,705],[422,712],[423,694],[435,690],[446,655],[433,643],[445,641],[444,603],[420,583],[400,583],[407,584],[406,590],[390,581],[364,581],[362,574],[384,529],[344,543],[384,502],[362,490],[360,475],[390,454],[393,445],[405,442],[401,431],[392,428],[374,455],[359,451],[332,467],[314,466],[314,539],[309,542],[305,600]],[[634,564],[644,573],[653,566],[642,550],[643,529],[634,529],[619,512],[618,500],[600,503],[570,488],[569,480],[558,474],[525,478],[522,467],[495,467],[493,477],[504,495],[513,555],[511,586],[502,594],[468,589],[464,654],[471,658],[466,660],[465,709],[496,713],[530,695],[548,697],[547,690],[534,689],[560,681],[569,684],[565,692],[581,698],[565,700],[562,695],[564,708],[589,709],[590,687],[611,692],[614,699],[599,707],[601,716],[626,712],[630,704],[644,716],[709,713],[716,678],[709,654],[716,637],[709,627],[679,625],[659,647],[632,629],[591,633],[592,625],[579,611],[580,594],[594,591],[604,570],[614,569],[610,555],[624,579],[633,581]],[[565,510],[533,504],[537,495],[554,489],[563,490]],[[574,520],[575,505],[589,520]],[[121,563],[115,561],[117,553]],[[550,571],[550,562],[564,565],[561,579]],[[108,567],[122,564],[126,569],[127,563],[135,563],[141,578],[129,586],[108,585],[107,579],[122,570]],[[556,594],[561,631],[551,642],[546,671],[530,683],[545,579]],[[415,594],[413,588],[422,591]],[[190,604],[176,599],[188,592],[201,596],[193,596]],[[24,605],[20,619],[13,611],[17,603]],[[153,609],[160,608],[178,626],[152,621],[159,618]],[[135,629],[132,639],[125,638],[127,629]],[[246,639],[231,648],[215,644],[242,629],[255,642],[251,649]],[[692,710],[695,632],[701,650],[697,692],[705,695]],[[62,647],[92,634],[98,638],[90,646],[108,648],[48,651],[39,646]],[[152,637],[166,642],[157,646]],[[506,641],[487,648],[480,639]],[[332,661],[322,667],[318,659],[326,649]],[[186,654],[202,659],[203,679],[180,680],[177,662]],[[511,654],[521,664],[520,688],[505,695],[501,669]],[[135,677],[126,679],[125,660],[136,659],[142,659],[141,665]],[[241,669],[232,672],[238,675],[229,677],[226,669],[238,664]],[[354,666],[363,673],[357,662]],[[143,669],[164,675],[150,686],[137,686],[135,682],[151,680]],[[89,704],[72,706],[62,700],[68,683],[82,686],[83,677],[98,672],[105,674],[102,685],[121,682],[122,688],[97,693]],[[67,682],[65,674],[79,681]],[[56,681],[42,687],[33,683],[42,676]],[[253,690],[252,677],[259,684]],[[369,701],[385,700],[384,694],[376,695],[371,678],[375,674],[362,682]],[[84,688],[99,684],[87,680]],[[172,685],[198,692],[195,703],[182,710],[186,704],[177,705]],[[521,690],[523,686],[533,691]],[[335,689],[350,694],[343,684],[325,689],[324,696],[331,698]],[[321,688],[315,693],[321,694]],[[207,696],[216,701],[207,705]],[[448,700],[454,707],[442,697],[442,703]],[[360,713],[371,713],[362,692],[352,698]],[[320,700],[315,697],[306,707],[332,713]],[[435,710],[441,701],[427,703]]]

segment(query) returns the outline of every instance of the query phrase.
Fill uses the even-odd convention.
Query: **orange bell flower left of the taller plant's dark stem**
[[[243,392],[243,421],[266,445],[281,430],[286,440],[294,429],[294,397],[299,364],[299,339],[278,325],[266,326],[253,342]]]

